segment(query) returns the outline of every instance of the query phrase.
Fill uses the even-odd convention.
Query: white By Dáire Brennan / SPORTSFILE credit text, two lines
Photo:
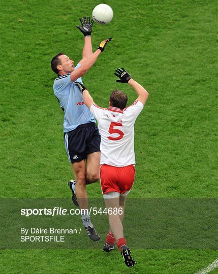
[[[50,234],[80,234],[80,229],[56,229],[50,227],[44,229],[41,227],[31,227],[30,229],[20,228],[20,242],[65,242],[64,235],[50,235]],[[39,235],[40,234],[40,235]],[[41,235],[44,234],[44,235]],[[49,235],[47,235],[49,234]]]

